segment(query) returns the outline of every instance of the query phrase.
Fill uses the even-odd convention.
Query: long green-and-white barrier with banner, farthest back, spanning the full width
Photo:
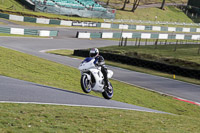
[[[63,26],[81,26],[81,27],[99,27],[105,29],[126,29],[126,30],[139,30],[139,31],[165,31],[165,32],[187,32],[187,33],[200,33],[200,28],[186,28],[186,27],[164,27],[164,26],[151,26],[151,25],[128,25],[128,24],[112,24],[112,23],[97,23],[97,22],[77,22],[77,21],[67,21],[58,19],[46,19],[46,18],[34,18],[34,17],[24,17],[18,15],[10,15],[0,13],[0,18],[40,23],[40,24],[53,24],[53,25],[63,25]]]

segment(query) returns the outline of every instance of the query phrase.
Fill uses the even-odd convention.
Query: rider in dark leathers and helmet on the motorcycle
[[[101,72],[103,73],[104,76],[104,82],[105,86],[109,87],[108,84],[108,77],[107,77],[107,68],[105,67],[105,61],[103,56],[99,55],[99,50],[97,48],[92,48],[90,50],[90,57],[95,58],[94,64],[96,66],[101,66]]]

